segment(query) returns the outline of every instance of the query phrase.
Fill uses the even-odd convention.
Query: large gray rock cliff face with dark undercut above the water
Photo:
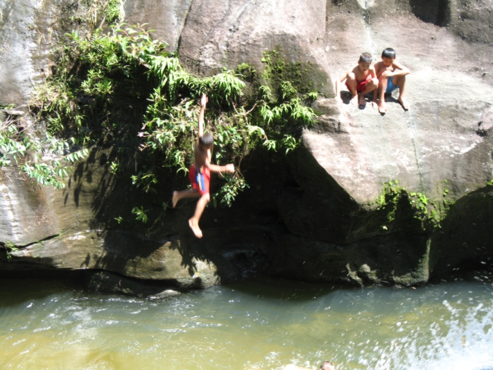
[[[46,49],[29,24],[46,38],[56,8],[50,1],[33,4],[0,5],[0,103],[25,101],[29,76],[42,74],[37,62]],[[24,248],[0,268],[105,269],[180,287],[254,274],[420,284],[464,260],[488,261],[492,8],[491,1],[453,0],[127,0],[129,23],[150,23],[194,72],[241,62],[261,71],[264,51],[273,49],[286,61],[310,63],[305,83],[325,95],[315,103],[318,121],[304,131],[303,147],[288,155],[286,169],[265,158],[252,162],[245,172],[252,190],[232,210],[207,210],[200,241],[186,226],[193,204],[170,213],[151,236],[102,225],[105,212],[103,219],[111,220],[119,211],[101,205],[115,192],[131,193],[98,162],[102,152],[80,164],[64,191],[39,189],[2,170],[0,241]],[[338,106],[334,78],[364,51],[378,61],[385,47],[411,71],[410,110],[402,110],[397,95],[384,116],[370,104],[350,106],[344,93]],[[395,180],[440,208],[441,228],[423,230],[405,199],[390,221],[381,217],[383,183]]]

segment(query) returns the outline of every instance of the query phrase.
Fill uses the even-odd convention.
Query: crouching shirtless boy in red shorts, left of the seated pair
[[[370,53],[363,53],[359,57],[358,65],[352,71],[347,71],[336,80],[336,99],[340,103],[343,102],[343,99],[340,98],[340,84],[346,80],[346,87],[352,94],[351,103],[355,106],[364,106],[366,104],[365,95],[373,90],[377,90],[379,86],[375,69],[371,64],[372,56]]]

